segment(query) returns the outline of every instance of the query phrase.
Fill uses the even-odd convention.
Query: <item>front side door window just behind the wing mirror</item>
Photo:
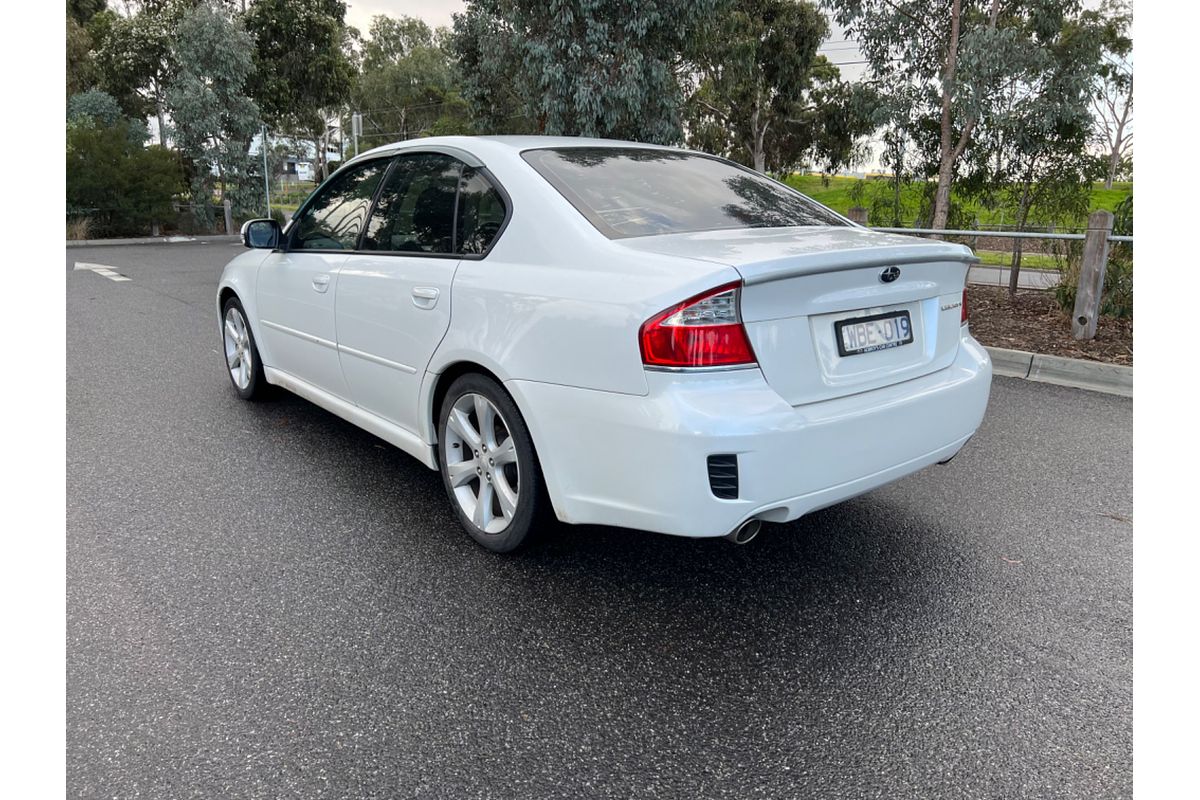
[[[322,186],[296,221],[290,248],[354,249],[388,161],[350,167]]]

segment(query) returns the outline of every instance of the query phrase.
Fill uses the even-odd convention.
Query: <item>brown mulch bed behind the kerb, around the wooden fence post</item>
[[[971,335],[983,344],[1133,366],[1132,319],[1102,317],[1096,338],[1078,342],[1052,291],[1027,289],[1009,297],[1006,288],[972,284],[967,299]]]

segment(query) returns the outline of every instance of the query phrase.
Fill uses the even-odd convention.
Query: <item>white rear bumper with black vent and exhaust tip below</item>
[[[796,519],[954,456],[983,419],[991,362],[965,333],[944,369],[800,407],[758,369],[647,379],[647,396],[506,384],[564,522],[724,536]],[[712,455],[737,456],[736,499],[714,495]]]

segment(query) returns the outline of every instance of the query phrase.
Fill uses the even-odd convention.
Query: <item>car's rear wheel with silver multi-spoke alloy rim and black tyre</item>
[[[456,379],[438,411],[438,469],[472,539],[494,553],[528,545],[552,519],[533,438],[509,393],[481,374]]]

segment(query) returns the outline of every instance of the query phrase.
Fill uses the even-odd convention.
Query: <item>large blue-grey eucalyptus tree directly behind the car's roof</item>
[[[470,0],[455,14],[463,96],[485,131],[682,139],[678,71],[714,0]],[[548,11],[548,13],[547,13]]]

